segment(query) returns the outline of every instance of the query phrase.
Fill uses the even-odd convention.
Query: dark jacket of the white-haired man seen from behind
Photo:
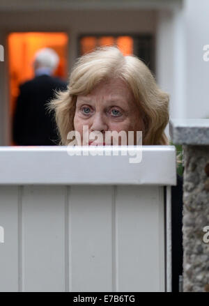
[[[20,146],[53,146],[58,144],[54,113],[47,112],[47,102],[54,90],[65,90],[67,84],[49,75],[40,75],[20,86],[13,118],[13,141]]]

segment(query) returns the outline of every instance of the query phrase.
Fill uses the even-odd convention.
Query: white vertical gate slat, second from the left
[[[65,190],[65,186],[24,186],[23,291],[65,291]]]

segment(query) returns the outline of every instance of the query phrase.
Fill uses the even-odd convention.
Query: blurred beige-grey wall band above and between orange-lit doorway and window
[[[10,22],[8,23],[8,20]],[[38,21],[38,22],[37,22]],[[155,33],[153,10],[68,10],[0,12],[0,30],[67,31],[70,66],[77,57],[77,35],[81,33]]]

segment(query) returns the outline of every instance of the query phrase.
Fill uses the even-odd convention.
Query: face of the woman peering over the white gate
[[[102,81],[88,95],[78,95],[74,117],[74,127],[81,135],[82,145],[84,135],[83,126],[88,126],[88,136],[102,133],[101,137],[92,137],[87,145],[114,144],[105,141],[105,132],[134,131],[134,144],[136,144],[136,131],[144,130],[144,123],[137,103],[134,102],[132,92],[122,79]],[[101,135],[101,134],[100,134]],[[86,135],[85,135],[86,136]],[[121,145],[121,137],[118,139]],[[123,144],[123,143],[122,143]]]

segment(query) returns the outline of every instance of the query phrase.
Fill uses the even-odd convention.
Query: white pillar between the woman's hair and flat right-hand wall
[[[171,118],[185,118],[184,10],[160,10],[156,32],[157,82],[170,94]]]

